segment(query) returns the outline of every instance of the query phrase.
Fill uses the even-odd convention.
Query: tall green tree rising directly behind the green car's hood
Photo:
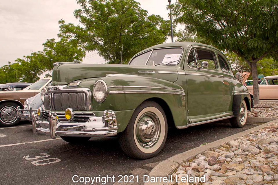
[[[59,21],[59,36],[82,43],[87,51],[98,51],[108,63],[126,63],[134,54],[163,43],[170,35],[170,21],[147,16],[134,0],[77,0],[74,11],[81,25]],[[122,50],[123,46],[123,50]]]

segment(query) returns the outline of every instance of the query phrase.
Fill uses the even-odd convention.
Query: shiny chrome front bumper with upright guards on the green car
[[[56,112],[51,112],[48,121],[41,121],[39,115],[32,114],[34,134],[72,137],[107,137],[117,135],[117,120],[112,110],[105,110],[102,117],[91,116],[85,123],[59,121]]]

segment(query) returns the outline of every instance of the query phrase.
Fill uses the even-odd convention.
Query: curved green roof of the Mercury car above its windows
[[[136,53],[136,55],[138,55],[140,53],[144,53],[145,51],[148,51],[150,49],[156,49],[156,48],[161,48],[161,47],[183,47],[184,49],[186,49],[186,48],[190,47],[191,45],[205,46],[205,47],[213,48],[213,49],[216,49],[217,51],[220,51],[219,49],[217,49],[215,47],[212,47],[212,46],[206,45],[206,44],[202,44],[202,43],[198,43],[198,42],[169,42],[169,43],[154,45],[152,47],[149,47],[147,49],[140,51],[139,53]]]

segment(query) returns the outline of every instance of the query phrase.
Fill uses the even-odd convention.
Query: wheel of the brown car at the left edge
[[[17,117],[17,104],[6,102],[0,105],[0,126],[9,127],[19,123],[20,118]]]

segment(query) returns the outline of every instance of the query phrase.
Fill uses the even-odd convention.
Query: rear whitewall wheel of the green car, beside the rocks
[[[233,127],[241,128],[244,127],[246,120],[247,120],[247,106],[245,101],[243,100],[240,106],[239,116],[230,118],[230,122]]]

